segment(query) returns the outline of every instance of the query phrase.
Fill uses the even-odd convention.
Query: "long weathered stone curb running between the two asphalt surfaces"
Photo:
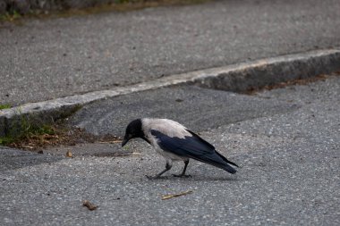
[[[239,92],[333,71],[340,71],[340,50],[337,49],[288,54],[251,63],[237,63],[225,67],[175,74],[128,87],[66,96],[0,110],[0,136],[7,134],[14,123],[21,123],[22,117],[30,121],[38,121],[38,123],[47,123],[72,114],[81,105],[133,92],[188,84]]]

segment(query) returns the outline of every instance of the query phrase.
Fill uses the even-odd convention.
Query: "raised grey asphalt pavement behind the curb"
[[[340,2],[212,1],[0,28],[0,104],[340,46]]]

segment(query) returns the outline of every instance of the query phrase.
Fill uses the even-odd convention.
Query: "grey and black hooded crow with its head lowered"
[[[229,164],[239,167],[219,154],[215,147],[206,140],[176,121],[148,118],[131,121],[126,128],[122,146],[132,138],[144,139],[155,147],[158,154],[166,158],[166,169],[156,176],[147,176],[149,179],[157,179],[169,171],[173,166],[173,161],[184,162],[183,172],[173,175],[188,177],[189,175],[185,175],[185,171],[190,158],[214,165],[230,173],[235,173],[236,170]]]

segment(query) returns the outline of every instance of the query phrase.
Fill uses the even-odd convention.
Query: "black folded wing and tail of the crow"
[[[214,146],[210,145],[195,133],[189,132],[192,136],[171,138],[158,130],[151,130],[151,134],[157,138],[158,146],[167,152],[212,164],[230,173],[236,172],[233,167],[227,164],[232,162],[228,161],[225,156],[217,153]],[[236,165],[235,163],[232,164]]]

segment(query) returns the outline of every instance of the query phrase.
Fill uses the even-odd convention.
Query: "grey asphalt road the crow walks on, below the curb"
[[[169,99],[182,98],[182,102],[174,100],[175,103],[191,106],[192,94],[198,89],[153,92],[161,96],[166,90]],[[180,172],[183,167],[182,163],[174,163],[165,178],[148,180],[145,175],[161,171],[165,161],[142,140],[123,150],[120,144],[80,144],[49,148],[42,155],[1,147],[0,222],[2,225],[340,224],[339,76],[253,96],[200,91],[205,94],[195,97],[200,113],[190,118],[186,113],[191,107],[173,105],[167,106],[166,117],[180,120],[183,113],[185,125],[200,132],[223,155],[242,166],[235,175],[191,161],[188,168],[191,178],[172,177],[172,172]],[[140,104],[148,103],[148,96],[155,94],[150,91],[133,95],[89,105],[70,118],[70,123],[84,125],[89,132],[112,130],[116,134],[120,130],[116,126],[123,128],[123,122],[138,114],[127,111],[133,109],[127,105],[138,105],[135,98],[140,98]],[[213,96],[215,103],[208,100]],[[107,104],[112,103],[122,105],[123,112],[115,105],[109,109]],[[93,114],[98,108],[106,114]],[[139,105],[139,114],[157,115],[157,111],[148,109],[149,105]],[[119,120],[109,125],[98,123],[100,128],[93,130],[90,125],[95,121],[89,121],[89,116],[105,121],[103,115],[113,115],[109,112],[116,113],[122,125],[118,124]],[[121,113],[125,113],[126,119]],[[81,124],[81,117],[87,122]],[[203,119],[208,119],[211,126],[204,124]],[[85,149],[88,152],[81,152]],[[65,157],[66,150],[71,150],[74,158]],[[133,154],[115,157],[115,153],[122,151]],[[164,195],[186,191],[192,193],[162,200]],[[85,199],[98,205],[98,209],[89,211],[82,206]]]

